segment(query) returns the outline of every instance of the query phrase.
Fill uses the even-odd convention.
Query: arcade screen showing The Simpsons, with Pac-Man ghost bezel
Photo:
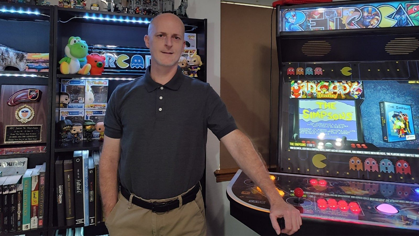
[[[417,183],[418,67],[367,76],[377,65],[357,63],[346,76],[342,63],[315,64],[283,66],[282,171]]]

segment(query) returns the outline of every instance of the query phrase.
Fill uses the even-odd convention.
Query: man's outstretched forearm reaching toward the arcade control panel
[[[284,202],[250,139],[239,130],[233,132],[237,132],[234,144],[227,148],[238,166],[264,191],[271,205]]]

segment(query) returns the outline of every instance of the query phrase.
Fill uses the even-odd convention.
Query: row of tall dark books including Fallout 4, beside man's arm
[[[99,191],[100,152],[75,151],[72,160],[55,162],[57,225],[89,226],[103,222]]]

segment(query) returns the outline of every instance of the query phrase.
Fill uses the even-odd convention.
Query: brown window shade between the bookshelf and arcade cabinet
[[[221,98],[238,128],[252,139],[268,165],[271,13],[269,8],[221,4]],[[275,11],[272,17],[272,92],[277,94]],[[272,108],[275,114],[277,100],[272,100]],[[277,126],[276,122],[271,125]],[[271,142],[275,149],[276,134]],[[220,168],[235,167],[237,164],[221,144]]]

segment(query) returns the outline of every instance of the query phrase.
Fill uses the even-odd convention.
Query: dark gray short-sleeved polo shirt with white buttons
[[[109,99],[105,135],[121,139],[119,181],[144,199],[176,197],[204,174],[207,128],[221,139],[237,129],[208,83],[180,68],[165,85],[145,76],[120,84]]]

